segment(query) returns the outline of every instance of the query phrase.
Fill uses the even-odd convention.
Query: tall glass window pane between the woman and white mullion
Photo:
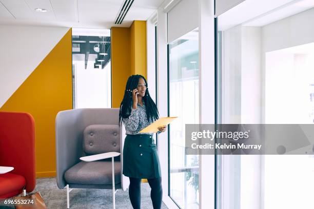
[[[185,154],[185,124],[199,123],[199,40],[193,30],[169,44],[170,197],[199,208],[199,156]]]

